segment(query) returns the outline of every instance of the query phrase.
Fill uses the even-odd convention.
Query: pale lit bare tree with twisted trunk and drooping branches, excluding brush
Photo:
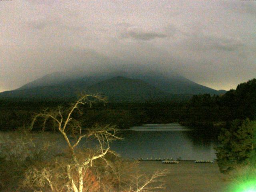
[[[84,175],[88,167],[93,165],[93,161],[99,158],[104,159],[104,156],[110,151],[110,146],[109,143],[110,141],[114,139],[120,139],[118,136],[116,136],[116,130],[112,126],[105,126],[105,127],[100,127],[97,128],[95,127],[92,130],[88,130],[86,133],[82,133],[82,127],[80,123],[72,118],[72,114],[74,110],[79,111],[79,106],[80,105],[85,105],[89,104],[91,106],[93,100],[101,100],[104,101],[104,98],[101,98],[100,96],[96,95],[90,95],[90,94],[85,94],[80,97],[74,103],[68,114],[64,116],[63,111],[61,108],[58,108],[55,111],[50,111],[50,110],[45,110],[43,113],[39,113],[35,116],[33,122],[32,122],[32,127],[34,126],[34,123],[37,118],[42,117],[44,118],[44,125],[47,120],[51,119],[57,124],[57,129],[58,131],[62,134],[64,137],[66,144],[68,145],[68,149],[71,153],[72,156],[72,163],[68,164],[66,167],[66,174],[69,180],[70,188],[74,192],[82,192],[83,187],[84,187]],[[67,132],[71,132],[74,140],[71,140],[68,137]],[[82,140],[82,138],[90,138],[93,137],[98,141],[99,144],[99,149],[94,152],[94,154],[85,156],[84,158],[81,158],[80,156],[78,157],[78,153],[76,152],[76,147]],[[114,152],[112,152],[114,154]],[[78,184],[74,181],[74,178],[72,177],[71,174],[71,166],[73,166],[77,173],[78,173]],[[50,186],[52,191],[54,191],[54,188],[51,184],[50,181],[50,173],[47,170],[43,171],[44,174],[42,176],[46,180],[47,184]]]

